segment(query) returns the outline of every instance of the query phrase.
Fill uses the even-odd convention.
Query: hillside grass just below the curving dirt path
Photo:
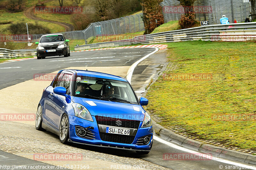
[[[10,13],[10,12],[6,12],[4,10],[0,10],[0,19],[1,19],[1,22],[13,22],[13,23],[26,22],[26,23],[36,24],[35,20],[25,17],[23,15],[23,12]],[[48,27],[52,33],[65,31],[65,28],[58,24],[48,23],[48,22],[44,22],[44,21],[37,21],[37,22],[40,25]],[[8,26],[10,26],[10,24],[1,25],[1,28],[7,28]],[[27,32],[24,34],[27,34]]]

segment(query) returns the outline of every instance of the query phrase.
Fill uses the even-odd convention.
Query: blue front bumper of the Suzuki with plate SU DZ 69
[[[151,145],[153,142],[153,128],[140,128],[142,122],[140,122],[139,129],[134,136],[134,139],[131,144],[125,143],[118,143],[118,142],[109,142],[103,141],[100,138],[100,133],[102,132],[99,130],[99,126],[96,122],[94,116],[92,116],[93,122],[78,118],[76,116],[69,115],[69,142],[72,143],[79,143],[79,144],[87,144],[87,145],[94,145],[100,147],[108,147],[108,148],[116,148],[116,149],[125,149],[125,150],[134,150],[134,151],[150,151]],[[87,139],[83,137],[79,137],[76,134],[76,127],[93,127],[94,129],[89,129],[93,133],[93,139]],[[150,136],[150,142],[145,145],[136,144],[141,137]],[[126,137],[126,135],[119,135],[120,138]]]

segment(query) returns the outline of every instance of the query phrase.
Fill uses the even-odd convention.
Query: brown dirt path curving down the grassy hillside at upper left
[[[43,3],[47,3],[47,2],[50,2],[50,1],[52,1],[52,0],[46,0]],[[33,19],[33,20],[39,20],[39,21],[44,21],[44,22],[50,22],[50,23],[58,24],[60,26],[63,26],[66,31],[74,31],[75,30],[75,27],[72,24],[68,24],[68,23],[64,23],[64,22],[58,22],[58,21],[49,21],[49,20],[45,20],[45,19],[36,17],[34,15],[34,12],[33,12],[33,9],[34,9],[35,6],[36,5],[33,5],[33,6],[29,7],[29,8],[27,8],[24,11],[24,15],[27,18]]]

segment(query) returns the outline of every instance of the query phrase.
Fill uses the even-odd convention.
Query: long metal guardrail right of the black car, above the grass
[[[256,40],[256,22],[210,25],[162,33],[140,35],[133,39],[75,46],[75,50],[116,47],[132,44],[153,44],[178,41],[247,41]]]

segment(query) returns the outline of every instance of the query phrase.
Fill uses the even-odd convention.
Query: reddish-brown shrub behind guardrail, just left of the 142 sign
[[[192,28],[196,25],[196,18],[194,12],[188,12],[185,15],[181,15],[179,20],[179,29]]]

